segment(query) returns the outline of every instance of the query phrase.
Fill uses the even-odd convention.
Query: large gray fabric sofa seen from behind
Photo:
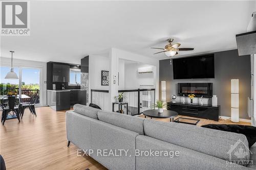
[[[242,134],[80,104],[66,112],[66,126],[68,141],[108,169],[255,169],[256,144],[249,150]],[[227,161],[238,159],[248,164]]]

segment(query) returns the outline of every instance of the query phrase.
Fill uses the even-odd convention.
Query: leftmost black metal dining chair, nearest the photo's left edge
[[[8,98],[8,105],[4,104],[4,101],[6,101]],[[16,114],[16,117],[18,119],[18,122],[20,122],[19,119],[19,105],[20,105],[20,98],[18,96],[8,96],[1,100],[1,106],[3,108],[2,113],[2,123],[5,124],[5,121],[7,119],[7,116],[10,112],[13,114]]]

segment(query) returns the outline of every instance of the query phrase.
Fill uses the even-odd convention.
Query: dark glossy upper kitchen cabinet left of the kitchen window
[[[69,82],[70,66],[66,64],[52,64],[52,82]]]

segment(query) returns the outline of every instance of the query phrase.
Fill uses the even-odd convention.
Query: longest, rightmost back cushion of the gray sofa
[[[250,158],[248,141],[243,134],[194,125],[159,122],[152,119],[144,120],[143,126],[146,136],[224,160],[238,160],[237,153],[241,153],[241,149],[244,157],[239,160],[249,160]]]

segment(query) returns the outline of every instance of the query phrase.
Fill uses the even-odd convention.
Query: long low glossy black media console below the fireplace
[[[200,105],[190,103],[167,102],[167,110],[173,110],[183,116],[206,118],[219,121],[220,106]]]

